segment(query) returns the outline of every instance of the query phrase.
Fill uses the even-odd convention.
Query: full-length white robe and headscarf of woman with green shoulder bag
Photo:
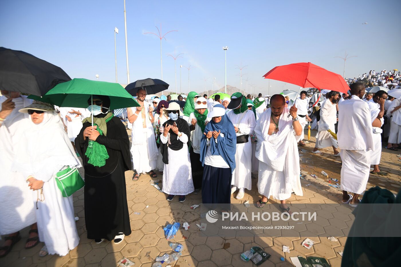
[[[28,121],[30,130],[18,146],[18,160],[12,170],[22,172],[24,178],[42,180],[43,201],[37,201],[38,191],[31,190],[32,204],[37,202],[36,218],[40,241],[49,254],[67,255],[77,247],[79,237],[75,226],[73,196],[63,197],[55,175],[66,166],[81,167],[73,146],[58,115],[46,111],[43,122]],[[40,197],[40,196],[39,196]]]

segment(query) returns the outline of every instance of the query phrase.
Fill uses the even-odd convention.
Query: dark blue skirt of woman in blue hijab
[[[231,168],[217,168],[205,164],[202,180],[202,202],[204,204],[230,204],[231,179]]]

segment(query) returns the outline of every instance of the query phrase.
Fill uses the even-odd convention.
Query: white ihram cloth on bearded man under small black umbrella
[[[131,107],[131,110],[132,113],[135,113],[136,107]],[[139,113],[134,123],[130,123],[132,125],[132,162],[134,170],[138,173],[155,170],[158,156],[153,125],[149,118],[149,106],[145,104],[142,112],[145,112],[145,128],[143,127],[142,113]]]

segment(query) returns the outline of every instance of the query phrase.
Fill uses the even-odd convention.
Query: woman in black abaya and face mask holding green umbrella
[[[85,223],[88,239],[118,244],[131,234],[124,172],[131,169],[130,141],[124,124],[110,112],[110,99],[88,99],[92,118],[83,121],[75,147],[85,169]],[[92,107],[93,104],[93,107]]]

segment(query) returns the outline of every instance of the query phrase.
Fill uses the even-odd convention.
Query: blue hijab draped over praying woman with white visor
[[[216,107],[216,106],[215,106]],[[223,106],[221,106],[223,107]],[[234,125],[227,117],[227,115],[221,116],[221,121],[215,123],[213,119],[206,125],[205,133],[209,131],[219,131],[224,134],[224,137],[219,136],[217,138],[217,143],[212,137],[210,140],[210,147],[212,155],[220,155],[228,166],[231,168],[231,173],[235,169],[235,151],[237,148],[237,136],[235,135]],[[201,140],[201,162],[202,166],[205,163],[206,150],[207,150],[207,138],[205,135],[202,136]]]

